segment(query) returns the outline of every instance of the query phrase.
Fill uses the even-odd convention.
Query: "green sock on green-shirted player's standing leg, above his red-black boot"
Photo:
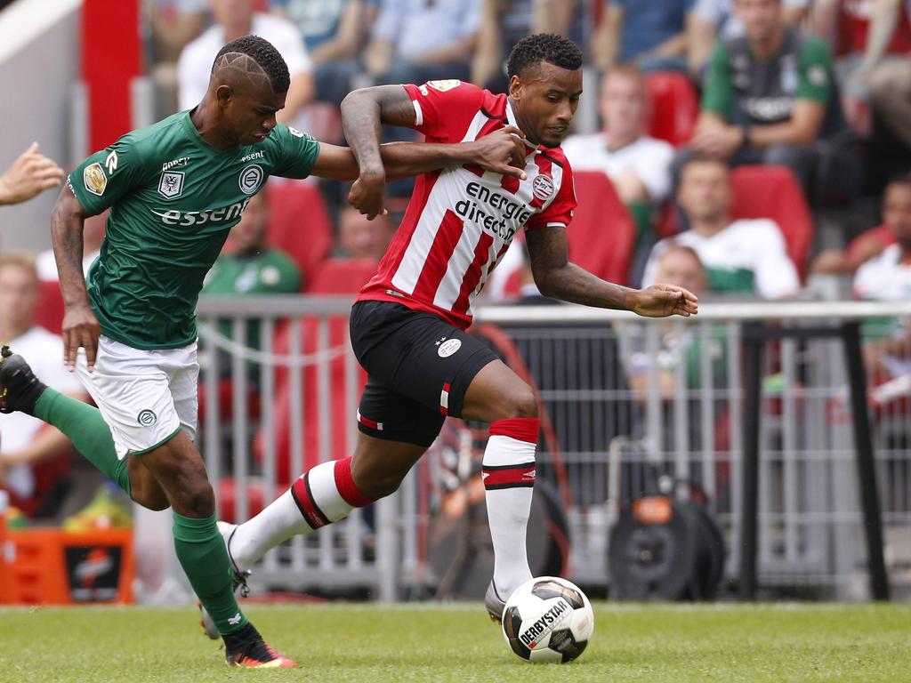
[[[231,585],[230,560],[215,515],[202,519],[174,513],[174,547],[202,606],[225,636],[248,624]]]

